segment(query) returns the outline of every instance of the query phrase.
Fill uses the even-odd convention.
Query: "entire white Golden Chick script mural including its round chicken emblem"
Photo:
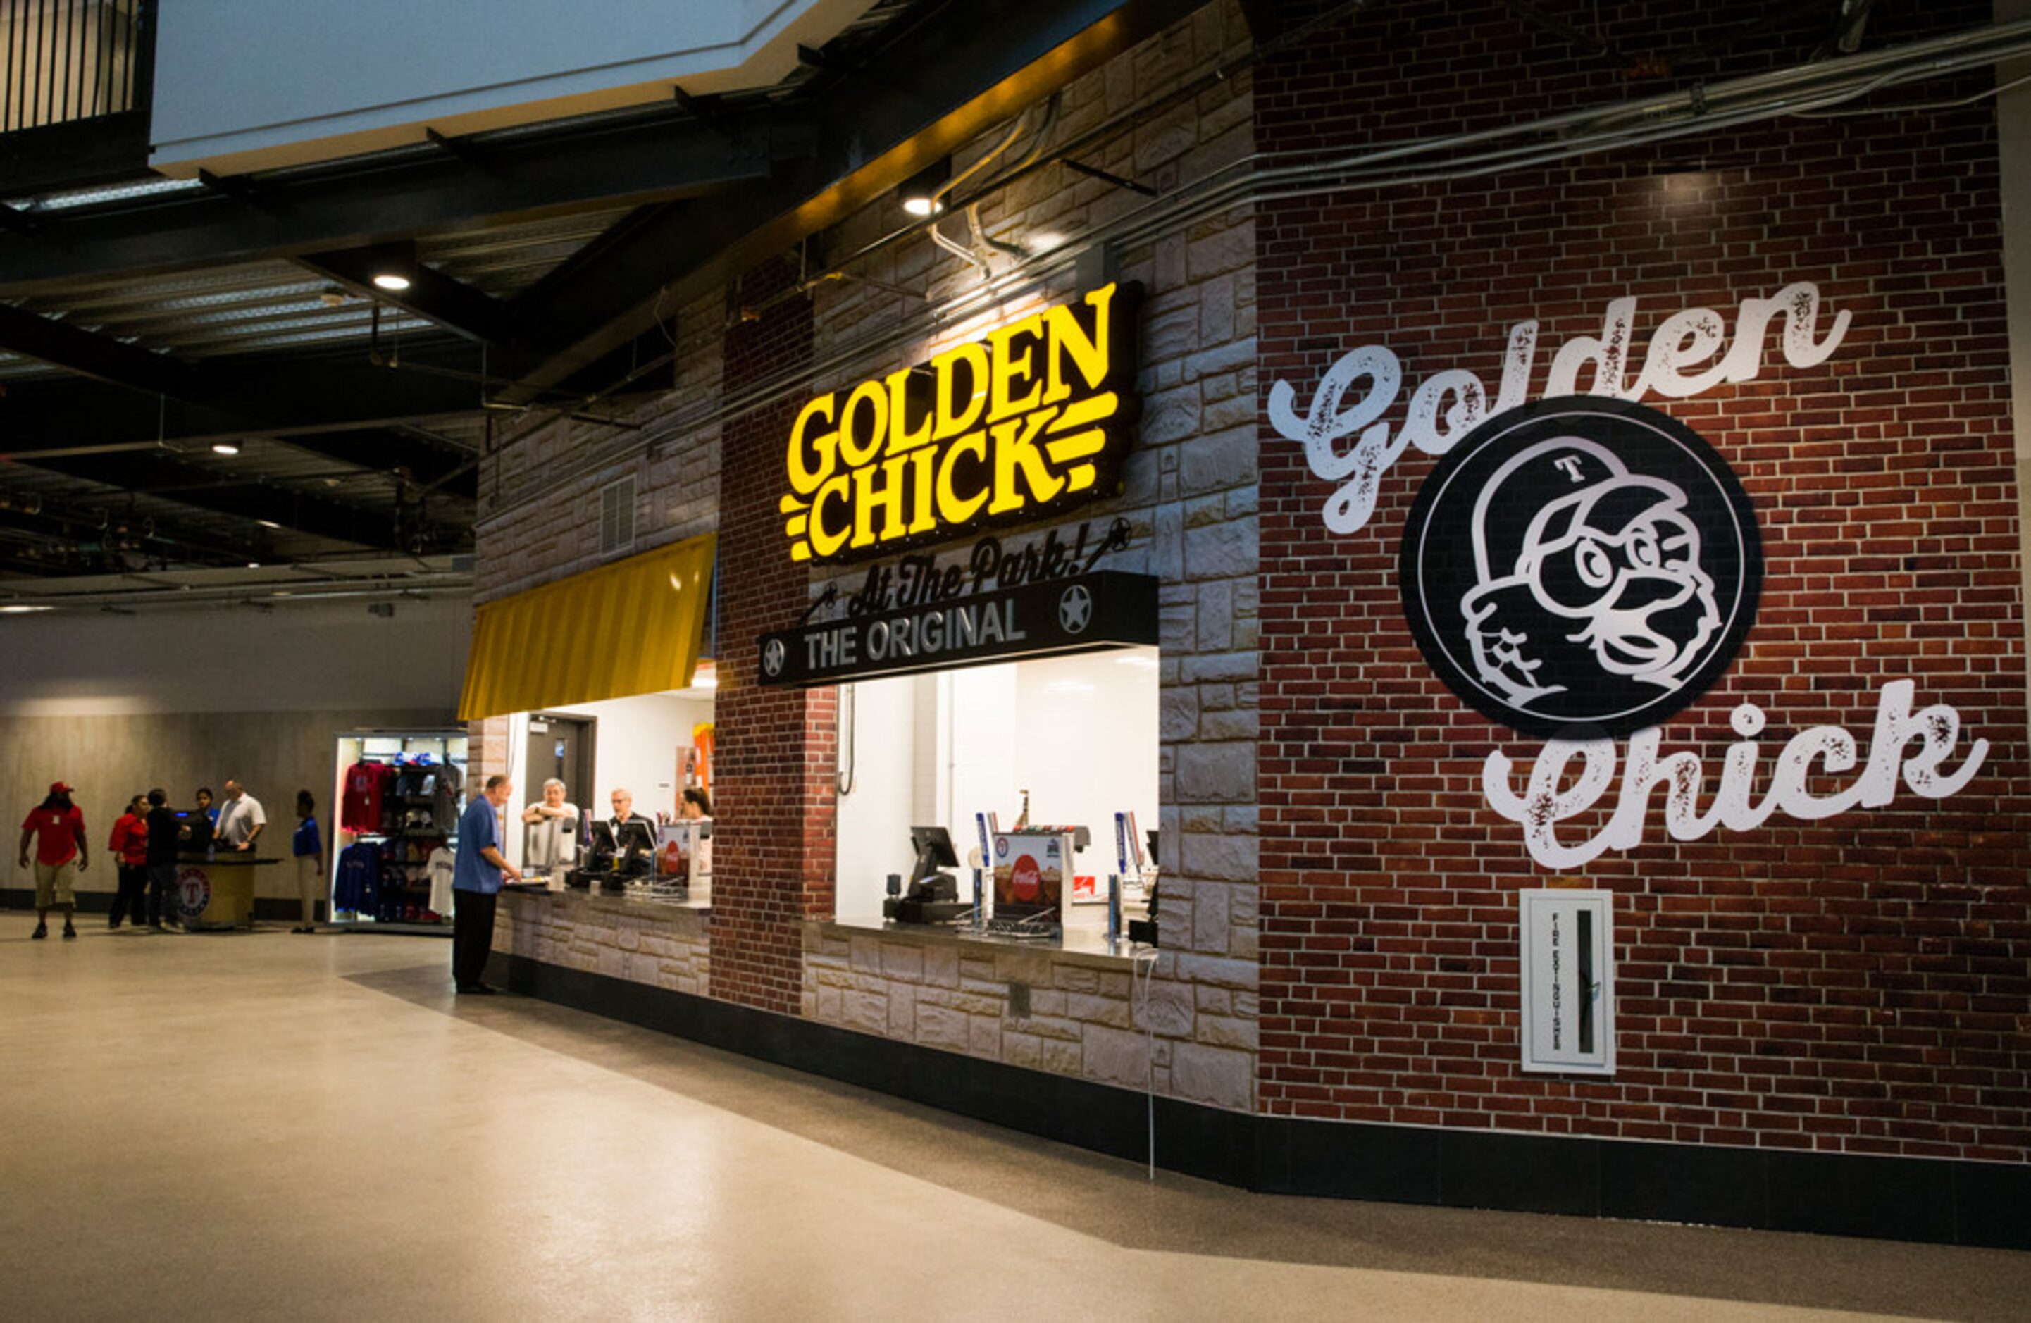
[[[1369,524],[1403,451],[1440,457],[1403,530],[1412,632],[1460,699],[1546,736],[1523,768],[1503,750],[1487,754],[1489,807],[1523,829],[1531,860],[1572,870],[1643,845],[1659,791],[1676,841],[1718,827],[1753,831],[1777,815],[1822,821],[1881,809],[1899,784],[1921,799],[1962,791],[1988,758],[1988,740],[1972,740],[1962,756],[1960,713],[1919,707],[1909,679],[1883,683],[1866,744],[1840,726],[1810,726],[1767,766],[1769,717],[1737,705],[1728,726],[1739,740],[1710,797],[1700,754],[1661,752],[1659,721],[1698,699],[1745,644],[1763,563],[1726,463],[1637,400],[1755,380],[1779,321],[1785,362],[1818,366],[1840,348],[1850,315],[1822,327],[1820,289],[1795,280],[1769,299],[1743,299],[1732,339],[1714,309],[1672,313],[1635,368],[1635,299],[1615,299],[1600,335],[1560,345],[1537,404],[1527,400],[1535,321],[1509,329],[1493,400],[1479,376],[1446,368],[1418,386],[1399,423],[1387,421],[1403,362],[1385,345],[1345,354],[1302,415],[1290,382],[1269,386],[1271,427],[1304,445],[1316,478],[1340,484],[1322,508],[1330,532]]]

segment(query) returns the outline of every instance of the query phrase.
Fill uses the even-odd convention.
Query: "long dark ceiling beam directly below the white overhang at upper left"
[[[189,189],[120,207],[43,211],[32,215],[35,238],[0,244],[0,293],[689,197],[766,179],[776,161],[806,154],[810,140],[806,124],[778,110],[723,110],[705,124],[670,104],[626,122],[465,142],[461,152],[262,175],[250,185],[252,201]]]

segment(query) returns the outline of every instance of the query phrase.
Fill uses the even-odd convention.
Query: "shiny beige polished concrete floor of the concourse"
[[[524,998],[0,915],[6,1319],[2031,1315],[2031,1254],[1261,1197]]]

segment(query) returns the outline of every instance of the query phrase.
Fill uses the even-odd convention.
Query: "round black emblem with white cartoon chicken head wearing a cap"
[[[1501,413],[1418,490],[1397,565],[1432,671],[1533,736],[1625,736],[1686,707],[1755,622],[1749,496],[1692,429],[1641,404]]]

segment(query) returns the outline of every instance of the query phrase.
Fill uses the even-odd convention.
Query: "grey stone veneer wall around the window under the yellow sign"
[[[1052,142],[1078,138],[1133,106],[1156,102],[1247,49],[1239,6],[1208,6],[1068,85]],[[1001,132],[989,138],[999,140]],[[1251,146],[1249,77],[1241,73],[1099,140],[1080,159],[1127,179],[1172,187],[1249,154]],[[969,161],[971,154],[961,152],[955,169],[963,171]],[[1052,167],[993,195],[981,207],[981,222],[995,238],[1034,246],[1139,205],[1143,199],[1135,193]],[[851,252],[902,222],[894,207],[869,209],[829,236],[827,248]],[[961,219],[948,222],[951,234],[961,230]],[[1253,256],[1255,230],[1247,211],[1223,213],[1117,254],[1117,276],[1145,291],[1137,380],[1143,415],[1125,465],[1125,490],[1119,500],[1054,516],[1034,532],[1003,534],[1020,545],[1048,526],[1076,528],[1093,520],[1095,528],[1105,528],[1119,516],[1131,526],[1131,545],[1101,565],[1162,581],[1158,772],[1166,949],[1150,994],[1156,1079],[1162,1093],[1235,1110],[1253,1106],[1257,1014]],[[928,242],[898,244],[859,274],[869,280],[816,291],[821,356],[910,311],[910,301],[883,287],[926,289],[936,301],[979,280],[973,266]],[[816,382],[814,390],[922,362],[948,343],[1078,293],[1083,287],[1066,274],[1046,297],[1011,301],[936,339]],[[940,559],[951,563],[967,551],[971,541],[942,549]],[[843,591],[855,579],[853,573],[837,575]],[[812,593],[827,581],[814,575]],[[1034,953],[1020,959],[979,955],[985,949],[965,947],[967,955],[955,963],[920,953],[920,943],[908,937],[869,935],[847,943],[833,929],[806,929],[804,1014],[928,1047],[1143,1087],[1150,1049],[1141,1020],[1129,1032],[1127,959],[1107,969],[1083,957],[1060,957],[1046,969]],[[1022,975],[1007,971],[1016,965]],[[924,969],[934,969],[936,978]],[[959,982],[951,982],[955,978]],[[1005,1014],[1011,980],[1036,988],[1028,1020]],[[963,1034],[959,1014],[967,1018]]]

